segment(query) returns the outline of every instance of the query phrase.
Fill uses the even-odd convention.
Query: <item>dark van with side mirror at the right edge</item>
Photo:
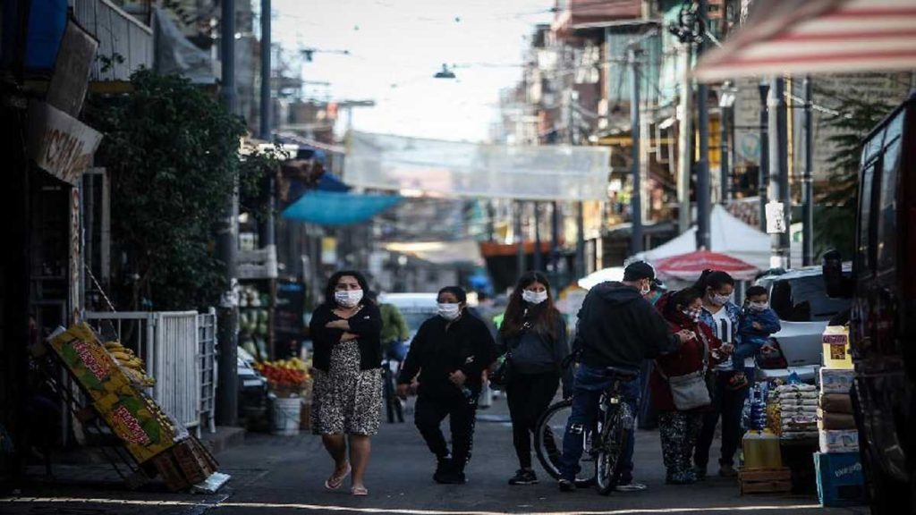
[[[916,510],[916,93],[868,135],[859,172],[856,255],[832,296],[851,296],[853,402],[872,513]]]

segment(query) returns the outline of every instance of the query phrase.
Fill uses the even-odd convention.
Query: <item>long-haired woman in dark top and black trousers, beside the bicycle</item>
[[[553,306],[551,284],[544,274],[529,272],[518,279],[499,328],[496,350],[511,356],[506,396],[519,468],[509,485],[533,485],[538,477],[531,467],[531,434],[561,380],[564,398],[572,385],[570,371],[562,369],[570,352],[566,323]]]

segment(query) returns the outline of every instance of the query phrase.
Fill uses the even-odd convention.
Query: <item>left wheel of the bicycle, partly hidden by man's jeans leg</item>
[[[538,455],[540,466],[551,475],[554,479],[560,479],[560,456],[563,449],[563,434],[566,432],[566,421],[572,413],[573,400],[561,400],[551,404],[551,407],[544,411],[540,417],[537,429],[534,433],[534,450]],[[590,446],[592,442],[592,433],[585,434],[583,457],[580,460],[582,471],[575,479],[575,484],[579,488],[587,488],[594,485],[594,455],[592,455]]]

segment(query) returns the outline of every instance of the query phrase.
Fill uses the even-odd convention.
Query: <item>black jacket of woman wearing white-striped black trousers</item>
[[[449,374],[461,370],[465,385],[479,392],[481,376],[495,360],[496,345],[482,320],[466,310],[453,323],[437,315],[420,325],[410,342],[398,383],[409,384],[419,372],[420,396],[447,399],[461,395],[449,380]]]

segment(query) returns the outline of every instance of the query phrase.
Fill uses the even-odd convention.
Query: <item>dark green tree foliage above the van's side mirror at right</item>
[[[862,142],[893,106],[850,89],[822,90],[818,93],[836,99],[840,112],[827,115],[824,121],[832,132],[827,140],[834,147],[834,153],[827,161],[830,180],[817,195],[822,209],[818,211],[818,222],[814,225],[814,243],[818,254],[836,248],[850,257],[856,241],[856,197]]]

